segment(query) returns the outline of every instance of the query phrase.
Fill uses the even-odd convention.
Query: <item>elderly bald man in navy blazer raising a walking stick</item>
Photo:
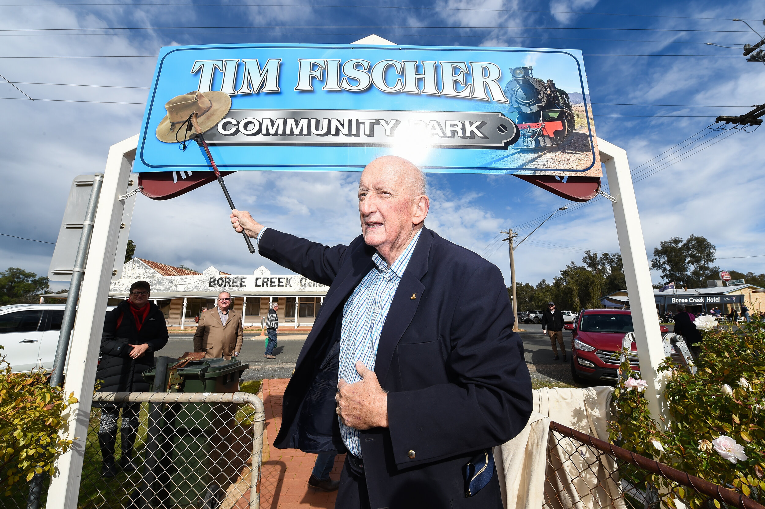
[[[361,173],[350,245],[231,214],[265,258],[330,286],[274,446],[348,452],[338,509],[502,507],[491,448],[531,414],[502,274],[425,228],[429,207],[422,171],[386,156]]]

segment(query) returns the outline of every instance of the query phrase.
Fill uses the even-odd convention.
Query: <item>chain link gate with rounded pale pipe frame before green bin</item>
[[[264,420],[244,392],[96,393],[77,507],[258,509]],[[28,489],[0,505],[25,509]]]

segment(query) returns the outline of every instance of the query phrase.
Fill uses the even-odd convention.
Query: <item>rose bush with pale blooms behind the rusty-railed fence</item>
[[[659,368],[667,378],[664,397],[670,414],[669,422],[661,426],[650,418],[643,394],[631,390],[635,381],[630,378],[640,375],[629,362],[621,366],[630,378],[614,389],[610,439],[624,449],[763,503],[765,412],[760,410],[765,407],[765,323],[753,320],[738,329],[715,324],[702,334],[695,374],[669,358]],[[621,473],[643,476],[654,486],[662,482],[629,468]],[[683,498],[692,509],[705,505],[705,497],[691,489],[675,491],[667,499],[674,507],[672,496]]]

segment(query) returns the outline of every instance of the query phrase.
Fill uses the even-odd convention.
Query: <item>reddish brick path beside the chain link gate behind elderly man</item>
[[[263,467],[260,488],[262,509],[295,509],[297,507],[324,507],[333,509],[337,491],[326,493],[308,488],[308,478],[316,461],[315,454],[298,449],[275,449],[272,445],[282,426],[282,395],[288,378],[264,380],[261,386],[265,405],[265,433],[263,443]],[[330,473],[333,479],[340,478],[340,469],[345,456],[337,456]]]

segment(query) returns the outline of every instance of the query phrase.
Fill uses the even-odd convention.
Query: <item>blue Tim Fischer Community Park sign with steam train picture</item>
[[[133,170],[209,170],[178,150],[197,112],[221,170],[359,171],[392,154],[427,172],[600,177],[587,103],[579,50],[164,47]]]

